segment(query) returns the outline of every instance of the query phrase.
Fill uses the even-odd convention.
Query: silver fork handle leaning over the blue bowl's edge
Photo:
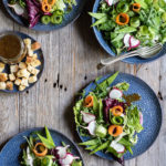
[[[136,52],[125,53],[125,54],[120,55],[120,56],[112,56],[112,58],[103,59],[103,60],[101,60],[101,64],[102,65],[110,65],[110,64],[113,64],[117,61],[124,60],[126,58],[136,56],[136,55],[138,55],[138,53],[136,53]]]

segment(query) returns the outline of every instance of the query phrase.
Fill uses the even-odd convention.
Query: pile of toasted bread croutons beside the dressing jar
[[[41,65],[41,62],[34,51],[41,48],[40,43],[31,43],[31,39],[24,39],[23,42],[27,49],[25,62],[11,64],[10,73],[3,72],[6,64],[0,62],[0,90],[12,91],[13,85],[17,85],[19,91],[23,91],[38,80],[40,70],[37,68]]]

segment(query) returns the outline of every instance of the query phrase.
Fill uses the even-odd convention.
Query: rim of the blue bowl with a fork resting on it
[[[96,6],[97,1],[98,1],[98,0],[95,0],[95,1],[94,1],[92,12],[96,12],[94,9],[95,9],[95,6]],[[102,0],[100,0],[100,1],[102,1]],[[100,2],[98,2],[98,3],[100,3]],[[92,18],[92,23],[94,23],[94,21],[95,21],[95,19]],[[98,44],[103,48],[103,50],[104,50],[110,56],[116,56],[115,53],[114,53],[114,52],[112,51],[112,49],[110,48],[110,45],[108,45],[108,44],[106,43],[106,41],[104,40],[102,32],[98,31],[96,27],[93,27],[93,33],[94,33],[94,35],[95,35],[95,38],[96,38]],[[104,43],[101,42],[101,39],[100,39],[100,37],[98,37],[97,33],[100,33],[100,34],[102,35]],[[107,46],[108,46],[108,50],[107,50]],[[164,48],[164,46],[166,46],[166,45],[163,44],[163,48]],[[163,50],[163,49],[162,49],[162,50]],[[162,50],[160,50],[160,52],[162,52]],[[111,51],[111,52],[110,52],[110,51]],[[160,53],[160,52],[159,52],[159,53]],[[112,54],[111,54],[111,53],[112,53]],[[157,54],[159,54],[159,53],[157,53]],[[128,59],[123,59],[123,60],[121,60],[121,61],[122,61],[122,62],[125,62],[125,63],[128,63],[128,64],[144,64],[144,63],[154,62],[154,61],[156,61],[156,60],[158,60],[159,58],[162,58],[162,56],[165,55],[165,54],[162,54],[162,55],[158,56],[157,54],[154,55],[154,58],[146,59],[146,61],[139,60],[139,62],[133,62],[132,60],[128,61],[129,58],[128,58]]]

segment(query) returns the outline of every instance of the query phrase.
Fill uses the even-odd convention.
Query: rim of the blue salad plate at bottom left
[[[17,136],[20,136],[20,135],[22,135],[22,134],[24,134],[24,133],[27,133],[27,132],[31,132],[31,131],[41,131],[41,129],[43,129],[43,128],[44,128],[44,127],[33,127],[33,128],[28,128],[28,129],[24,129],[24,131],[22,131],[22,132],[19,132],[19,133],[17,133],[17,134],[14,134],[13,136],[11,136],[11,137],[8,139],[8,142],[4,142],[4,146],[3,146],[3,147],[1,148],[1,151],[0,151],[0,156],[2,156],[3,151],[6,151],[6,148],[7,148],[7,146],[8,146],[8,143],[9,143],[9,142],[12,142]],[[81,154],[81,152],[80,152],[79,146],[77,146],[70,137],[68,137],[65,134],[59,132],[58,129],[53,129],[53,128],[51,128],[51,127],[49,127],[48,129],[51,131],[51,132],[54,132],[54,133],[56,133],[56,134],[59,134],[59,135],[62,135],[62,136],[65,137],[68,141],[70,141],[70,142],[74,145],[74,148],[79,152],[79,155],[80,155],[80,157],[81,157],[82,164],[83,164],[83,166],[84,166],[84,159],[83,159],[83,156],[82,156],[82,154]]]

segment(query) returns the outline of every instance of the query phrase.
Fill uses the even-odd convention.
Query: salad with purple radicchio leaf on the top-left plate
[[[76,0],[9,0],[8,6],[33,28],[39,21],[61,24],[64,15],[76,6]]]

